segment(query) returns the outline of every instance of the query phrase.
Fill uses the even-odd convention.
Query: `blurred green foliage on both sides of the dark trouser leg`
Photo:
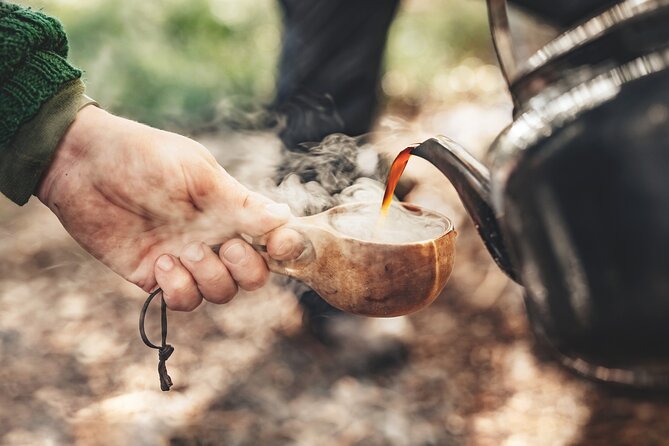
[[[335,1],[335,0],[333,0]],[[271,101],[280,51],[276,0],[23,1],[58,17],[88,94],[162,127],[201,125],[221,106]],[[411,0],[391,30],[387,67],[420,99],[439,72],[489,60],[484,3]]]

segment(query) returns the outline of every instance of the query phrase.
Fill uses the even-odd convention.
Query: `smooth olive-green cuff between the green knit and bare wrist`
[[[89,104],[95,101],[84,95],[84,83],[75,79],[63,84],[34,117],[21,125],[0,160],[3,194],[19,205],[28,201],[77,112]]]

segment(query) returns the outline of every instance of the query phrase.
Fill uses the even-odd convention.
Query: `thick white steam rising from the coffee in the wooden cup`
[[[390,163],[371,143],[332,134],[304,149],[284,150],[275,177],[278,185],[268,179],[261,188],[273,200],[286,203],[293,214],[313,215],[334,206],[362,202],[369,206],[334,215],[332,227],[350,237],[383,243],[428,240],[445,231],[441,218],[417,214],[397,204],[391,206],[384,224],[380,208]]]

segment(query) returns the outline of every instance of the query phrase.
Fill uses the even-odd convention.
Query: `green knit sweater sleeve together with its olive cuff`
[[[60,23],[0,1],[0,191],[24,204],[83,99]]]

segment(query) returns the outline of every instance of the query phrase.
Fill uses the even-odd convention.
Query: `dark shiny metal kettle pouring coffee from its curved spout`
[[[486,165],[445,137],[413,154],[453,183],[562,363],[667,388],[669,1],[488,8],[513,122]]]

